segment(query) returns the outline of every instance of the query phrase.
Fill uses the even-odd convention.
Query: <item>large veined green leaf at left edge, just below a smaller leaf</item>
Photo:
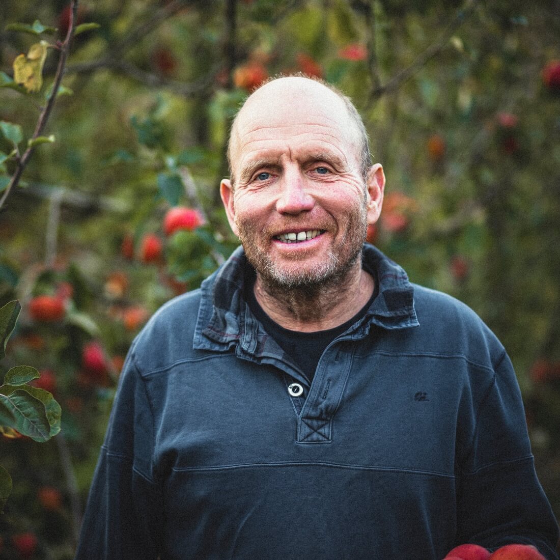
[[[31,388],[0,387],[0,423],[7,424],[34,441],[47,441],[51,436],[45,405],[27,389]],[[10,420],[10,415],[13,420]]]

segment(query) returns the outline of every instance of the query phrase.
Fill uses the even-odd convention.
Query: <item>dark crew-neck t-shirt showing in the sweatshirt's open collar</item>
[[[264,330],[276,340],[278,346],[301,368],[307,379],[309,379],[309,382],[313,380],[315,370],[317,369],[317,365],[325,348],[366,314],[366,311],[377,295],[377,282],[375,282],[375,290],[370,300],[352,317],[352,319],[349,319],[342,325],[335,326],[334,329],[318,330],[312,333],[300,333],[297,330],[284,329],[283,326],[270,319],[259,305],[259,302],[256,301],[255,292],[253,290],[254,283],[254,276],[245,282],[245,301],[249,304],[249,309],[256,319],[264,326]]]

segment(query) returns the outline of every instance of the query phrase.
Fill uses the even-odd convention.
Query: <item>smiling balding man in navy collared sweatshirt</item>
[[[77,558],[557,558],[505,350],[362,246],[385,178],[352,104],[270,81],[229,155],[242,249],[134,341]]]

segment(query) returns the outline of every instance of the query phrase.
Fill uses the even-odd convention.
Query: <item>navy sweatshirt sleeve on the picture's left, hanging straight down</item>
[[[120,375],[82,522],[76,560],[156,560],[161,485],[152,472],[153,416],[131,348]]]

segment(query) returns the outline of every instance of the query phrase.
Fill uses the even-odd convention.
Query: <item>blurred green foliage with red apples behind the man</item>
[[[352,97],[388,177],[368,240],[505,344],[559,516],[560,1],[82,0],[77,15],[99,28],[73,41],[55,142],[0,209],[0,305],[23,306],[2,366],[38,368],[63,409],[45,444],[1,438],[0,558],[72,558],[125,353],[236,246],[218,194],[228,127],[281,72]],[[10,25],[35,20],[57,31]],[[22,147],[59,51],[38,92],[13,87],[13,62],[68,25],[66,0],[0,4],[0,122]],[[0,133],[0,195],[12,148]]]

